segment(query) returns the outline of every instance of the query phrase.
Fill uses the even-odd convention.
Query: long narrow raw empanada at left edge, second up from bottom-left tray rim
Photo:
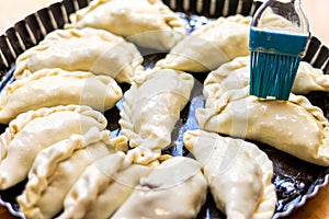
[[[104,112],[122,97],[122,90],[107,76],[90,72],[43,69],[5,87],[0,94],[0,123],[19,114],[57,105],[89,105]]]

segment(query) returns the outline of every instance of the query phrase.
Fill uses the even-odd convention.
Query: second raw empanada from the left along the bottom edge
[[[125,155],[115,153],[88,166],[65,198],[67,218],[109,218],[133,193],[140,177],[151,169],[125,163]]]

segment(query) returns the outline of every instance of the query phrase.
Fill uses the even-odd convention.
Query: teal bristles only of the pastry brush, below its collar
[[[288,100],[299,62],[299,56],[251,51],[250,94]]]

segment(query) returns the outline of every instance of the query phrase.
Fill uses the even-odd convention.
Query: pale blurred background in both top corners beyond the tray
[[[59,0],[0,0],[0,34],[15,22]],[[302,0],[311,33],[329,46],[329,0]]]

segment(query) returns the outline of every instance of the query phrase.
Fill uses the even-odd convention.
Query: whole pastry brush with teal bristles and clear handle
[[[250,95],[288,100],[308,35],[300,0],[262,3],[250,27]]]

